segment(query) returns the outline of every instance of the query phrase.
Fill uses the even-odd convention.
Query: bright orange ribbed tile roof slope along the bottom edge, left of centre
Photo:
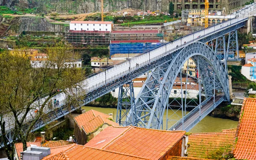
[[[148,158],[122,154],[113,151],[90,148],[83,145],[71,145],[57,154],[50,154],[42,160],[149,160]]]

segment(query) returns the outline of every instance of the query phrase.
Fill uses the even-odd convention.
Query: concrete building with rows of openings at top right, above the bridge
[[[205,0],[172,0],[174,10],[204,9],[204,2]],[[230,10],[243,6],[246,2],[250,0],[209,0],[209,12],[225,10],[228,14]]]

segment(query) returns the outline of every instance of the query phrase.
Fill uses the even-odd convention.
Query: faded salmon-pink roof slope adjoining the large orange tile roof
[[[129,128],[127,127],[112,127],[109,126],[104,129],[104,132],[100,132],[97,135],[97,138],[91,139],[89,142],[85,144],[88,147],[102,148],[115,137],[119,137],[125,130]]]

